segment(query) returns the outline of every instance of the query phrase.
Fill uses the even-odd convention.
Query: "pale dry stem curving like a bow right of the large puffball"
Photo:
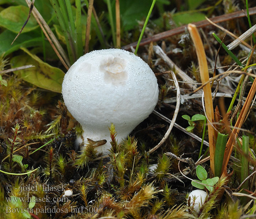
[[[172,77],[173,77],[173,80],[174,80],[174,84],[175,84],[175,87],[176,87],[176,91],[177,91],[177,102],[176,102],[176,108],[175,108],[175,111],[174,111],[174,115],[173,115],[173,119],[172,119],[172,122],[170,123],[170,126],[168,128],[168,130],[166,131],[164,137],[162,138],[162,140],[155,146],[153,147],[152,149],[150,149],[148,151],[148,154],[151,154],[152,152],[154,152],[155,150],[157,150],[164,142],[165,140],[168,138],[168,136],[170,135],[170,132],[172,131],[172,128],[174,126],[174,123],[176,121],[176,118],[177,118],[177,115],[178,115],[178,111],[179,111],[179,108],[180,108],[180,87],[179,87],[179,84],[178,84],[178,81],[177,81],[177,78],[175,76],[175,74],[172,72]]]

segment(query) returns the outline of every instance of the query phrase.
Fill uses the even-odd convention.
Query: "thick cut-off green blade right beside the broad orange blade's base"
[[[218,133],[216,147],[215,147],[215,155],[214,155],[214,171],[215,176],[221,177],[222,163],[224,152],[227,144],[228,135],[224,135]]]

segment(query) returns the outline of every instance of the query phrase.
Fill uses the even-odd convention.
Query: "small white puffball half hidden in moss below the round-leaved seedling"
[[[207,192],[200,189],[193,190],[188,195],[187,205],[188,206],[193,205],[193,210],[195,210],[198,213],[199,209],[202,207],[202,205],[206,201],[206,198],[207,198]]]

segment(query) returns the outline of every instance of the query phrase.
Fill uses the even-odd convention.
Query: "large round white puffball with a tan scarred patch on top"
[[[69,112],[83,127],[84,143],[87,138],[106,139],[107,143],[96,150],[107,154],[111,122],[121,142],[154,110],[158,84],[146,62],[133,53],[95,50],[71,66],[63,80],[62,94]]]

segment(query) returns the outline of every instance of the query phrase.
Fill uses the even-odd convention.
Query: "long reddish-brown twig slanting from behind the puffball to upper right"
[[[254,14],[256,14],[256,7],[249,8],[249,15],[254,15]],[[233,12],[233,13],[226,14],[226,15],[217,16],[217,17],[211,18],[210,20],[214,23],[219,23],[219,22],[225,22],[227,20],[236,19],[236,18],[242,18],[244,16],[246,16],[246,13],[242,10],[242,11],[237,11],[237,12]],[[199,22],[195,22],[193,24],[195,24],[197,28],[210,25],[210,23],[207,20],[202,20]],[[159,34],[155,34],[152,37],[142,39],[142,41],[140,41],[140,46],[149,44],[150,42],[159,41],[161,39],[165,39],[165,38],[171,37],[173,35],[181,34],[182,32],[185,31],[186,27],[187,27],[187,25],[184,25],[181,27],[174,28],[172,30],[161,32]],[[137,43],[138,42],[128,44],[126,46],[123,46],[122,49],[130,50],[131,47],[136,47]]]

